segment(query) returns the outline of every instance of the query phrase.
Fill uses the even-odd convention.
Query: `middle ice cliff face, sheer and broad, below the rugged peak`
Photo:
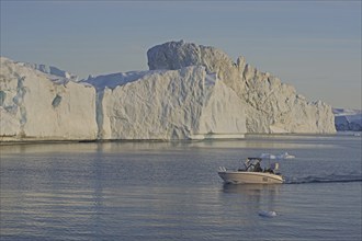
[[[100,139],[230,138],[246,133],[238,96],[203,67],[117,73],[87,82],[98,88]]]

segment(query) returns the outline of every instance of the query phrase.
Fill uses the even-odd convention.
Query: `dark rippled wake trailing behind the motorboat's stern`
[[[286,177],[285,184],[305,184],[305,183],[351,183],[362,182],[361,175],[326,175],[326,176],[301,176],[301,177]]]

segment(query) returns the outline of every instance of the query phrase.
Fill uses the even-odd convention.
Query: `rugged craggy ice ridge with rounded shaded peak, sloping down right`
[[[233,60],[222,50],[184,42],[169,42],[147,53],[149,69],[204,66],[231,88],[242,102],[248,133],[335,133],[331,107],[310,103],[270,73]]]

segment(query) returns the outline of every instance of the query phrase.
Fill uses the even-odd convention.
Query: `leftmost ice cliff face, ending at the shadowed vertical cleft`
[[[94,139],[95,90],[1,57],[1,140]]]

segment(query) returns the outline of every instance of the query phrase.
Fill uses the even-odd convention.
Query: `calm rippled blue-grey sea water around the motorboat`
[[[361,146],[346,135],[1,146],[1,240],[361,240]],[[285,151],[286,184],[224,185],[216,172]]]

